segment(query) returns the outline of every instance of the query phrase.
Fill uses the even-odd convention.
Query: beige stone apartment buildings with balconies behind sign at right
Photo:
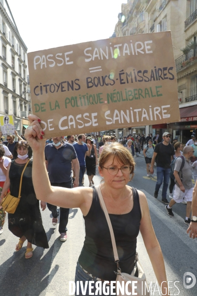
[[[113,37],[163,31],[171,31],[181,121],[145,130],[160,135],[168,130],[173,138],[186,143],[197,128],[197,0],[128,0],[121,6]],[[144,127],[131,129],[142,130]]]

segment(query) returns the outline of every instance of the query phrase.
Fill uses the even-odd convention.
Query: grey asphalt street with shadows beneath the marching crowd
[[[147,197],[153,227],[164,255],[167,279],[172,281],[169,285],[173,287],[170,289],[171,295],[196,296],[197,284],[192,289],[183,287],[185,272],[192,272],[197,277],[197,239],[190,239],[186,233],[186,205],[175,205],[174,218],[167,216],[164,203],[161,202],[161,191],[158,199],[153,197],[156,174],[154,173],[151,178],[146,177],[146,164],[142,154],[135,157],[135,161],[135,175],[129,185],[142,190]],[[97,176],[94,177],[95,185],[98,185],[100,180],[97,170]],[[89,185],[86,175],[84,185]],[[85,236],[83,216],[79,209],[70,210],[68,238],[64,243],[60,242],[58,225],[52,225],[52,216],[48,209],[42,212],[42,219],[49,240],[49,249],[35,247],[33,258],[27,260],[25,247],[15,252],[18,238],[8,230],[6,218],[3,233],[0,235],[0,296],[69,295],[68,282],[74,281],[75,266]],[[26,243],[24,245],[26,246]],[[140,234],[137,238],[137,251],[147,282],[152,282],[151,295],[161,295],[157,292],[156,277]],[[174,286],[175,281],[179,282],[175,285],[180,292]]]

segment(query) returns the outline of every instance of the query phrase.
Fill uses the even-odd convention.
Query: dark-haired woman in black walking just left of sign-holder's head
[[[93,139],[88,137],[86,139],[86,144],[90,144],[91,154],[86,156],[86,171],[89,179],[89,187],[94,185],[93,177],[96,175],[96,165],[97,165],[97,147],[93,144]]]

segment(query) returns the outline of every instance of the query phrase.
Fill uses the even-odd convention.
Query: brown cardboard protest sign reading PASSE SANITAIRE
[[[31,52],[28,65],[46,137],[180,120],[170,32]]]

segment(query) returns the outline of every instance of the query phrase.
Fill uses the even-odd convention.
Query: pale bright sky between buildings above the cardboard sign
[[[28,52],[112,36],[127,0],[7,0]]]

